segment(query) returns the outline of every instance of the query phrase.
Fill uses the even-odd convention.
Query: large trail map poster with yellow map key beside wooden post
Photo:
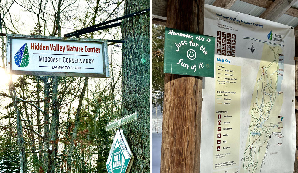
[[[293,172],[294,30],[206,4],[204,14],[215,67],[202,93],[201,173]]]

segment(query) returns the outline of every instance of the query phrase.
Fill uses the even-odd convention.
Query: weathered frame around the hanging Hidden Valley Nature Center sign
[[[27,70],[12,70],[12,48],[14,39],[32,39],[32,40],[50,40],[58,42],[75,42],[75,43],[99,43],[103,45],[103,73],[74,73],[74,72],[45,72],[45,71],[27,71]],[[72,76],[72,77],[96,77],[96,78],[108,78],[109,77],[109,65],[108,65],[108,52],[107,40],[99,39],[80,39],[80,38],[65,38],[65,37],[52,37],[52,36],[36,36],[36,35],[19,35],[19,34],[7,34],[7,73],[16,75],[35,75],[35,76]],[[9,52],[9,53],[8,53]]]

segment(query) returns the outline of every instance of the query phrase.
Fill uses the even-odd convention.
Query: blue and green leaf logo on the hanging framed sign
[[[17,51],[14,59],[18,67],[27,67],[30,61],[27,43]]]

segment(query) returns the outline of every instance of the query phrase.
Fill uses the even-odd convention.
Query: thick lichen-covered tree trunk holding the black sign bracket
[[[126,0],[124,15],[149,8],[149,0]],[[122,40],[122,117],[139,112],[139,119],[123,125],[125,137],[134,155],[131,173],[150,171],[150,14],[124,19]]]

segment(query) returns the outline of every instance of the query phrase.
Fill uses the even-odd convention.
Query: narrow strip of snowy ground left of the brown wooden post
[[[162,148],[162,113],[160,108],[157,110],[157,118],[156,118],[156,109],[152,106],[152,173],[160,173],[160,155]]]

